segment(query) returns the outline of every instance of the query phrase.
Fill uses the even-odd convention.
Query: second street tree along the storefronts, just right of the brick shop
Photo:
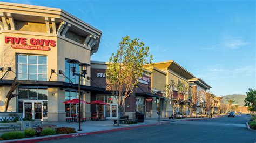
[[[169,84],[166,86],[166,97],[168,97],[170,101],[170,105],[172,107],[172,119],[175,119],[175,111],[179,109],[181,101],[184,101],[186,97],[188,97],[188,85],[186,85],[183,81],[175,83],[174,80],[171,80]],[[174,90],[177,91],[177,94],[174,93]]]

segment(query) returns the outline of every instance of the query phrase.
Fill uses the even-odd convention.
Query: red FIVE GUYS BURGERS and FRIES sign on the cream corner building
[[[42,50],[50,51],[50,47],[56,46],[55,40],[46,40],[46,39],[26,39],[19,37],[7,37],[4,38],[5,43],[11,43],[11,47],[14,49],[26,49],[26,50]],[[31,45],[28,45],[30,43]]]

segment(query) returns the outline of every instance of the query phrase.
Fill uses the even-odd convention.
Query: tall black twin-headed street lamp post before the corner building
[[[81,129],[81,91],[80,91],[80,87],[81,87],[81,78],[84,77],[85,78],[85,75],[87,74],[87,67],[90,66],[90,64],[86,64],[86,63],[80,63],[78,60],[75,60],[75,59],[71,59],[71,60],[68,60],[68,63],[71,64],[71,72],[73,73],[73,76],[78,76],[79,77],[79,80],[78,80],[78,98],[79,98],[79,104],[78,104],[78,122],[79,122],[79,128],[77,131],[82,131]],[[76,65],[79,65],[80,66],[80,69],[77,72],[76,70]],[[84,67],[86,69],[84,69]]]

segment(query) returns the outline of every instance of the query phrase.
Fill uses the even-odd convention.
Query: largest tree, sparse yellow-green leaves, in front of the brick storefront
[[[119,126],[120,111],[124,107],[125,99],[133,93],[142,77],[143,65],[151,64],[152,55],[149,47],[145,47],[140,39],[123,37],[118,45],[117,53],[112,53],[107,65],[106,74],[108,86],[111,87],[112,95],[118,102],[117,126]]]

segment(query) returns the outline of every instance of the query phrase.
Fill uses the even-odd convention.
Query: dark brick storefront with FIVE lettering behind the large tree
[[[107,86],[106,67],[107,62],[91,61],[91,86],[106,88],[105,93],[91,92],[91,100],[101,100],[109,105],[91,105],[91,113],[102,114],[106,119],[116,119],[118,106],[117,101],[111,94],[111,89]],[[145,115],[145,118],[157,118],[158,95],[151,90],[150,72],[144,73],[138,79],[136,90],[125,100],[125,106],[121,110],[121,115],[128,115],[129,119],[134,119],[136,112]],[[164,98],[160,99],[160,110]]]

